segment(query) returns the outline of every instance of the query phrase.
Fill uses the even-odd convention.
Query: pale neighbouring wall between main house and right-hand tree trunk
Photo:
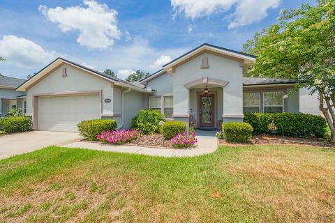
[[[319,109],[318,93],[310,95],[310,90],[300,89],[300,112],[308,114],[320,115],[322,112]]]

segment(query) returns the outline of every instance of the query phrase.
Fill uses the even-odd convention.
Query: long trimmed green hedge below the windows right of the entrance
[[[245,114],[244,121],[253,126],[253,134],[269,132],[269,123],[274,121],[277,134],[290,137],[324,137],[327,123],[322,116],[293,113]]]

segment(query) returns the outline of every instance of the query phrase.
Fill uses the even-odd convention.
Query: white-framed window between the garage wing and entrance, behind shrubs
[[[149,98],[149,108],[156,109],[165,114],[166,118],[172,118],[173,114],[173,96],[166,95]]]

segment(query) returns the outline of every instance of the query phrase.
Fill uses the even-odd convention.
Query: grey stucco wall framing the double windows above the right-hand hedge
[[[283,88],[276,86],[257,86],[255,88],[244,88],[243,92],[259,92],[260,93],[260,112],[264,112],[263,109],[263,93],[269,91],[283,91],[283,95],[288,95],[287,99],[284,99],[284,112],[299,113],[299,91],[293,91],[292,88]]]

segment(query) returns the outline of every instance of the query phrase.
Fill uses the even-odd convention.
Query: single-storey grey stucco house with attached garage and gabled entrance
[[[27,93],[26,116],[35,130],[76,132],[77,123],[90,118],[113,118],[118,128],[130,128],[147,108],[204,129],[242,121],[248,112],[299,112],[294,80],[243,77],[255,59],[203,44],[130,83],[58,58],[17,91]]]

